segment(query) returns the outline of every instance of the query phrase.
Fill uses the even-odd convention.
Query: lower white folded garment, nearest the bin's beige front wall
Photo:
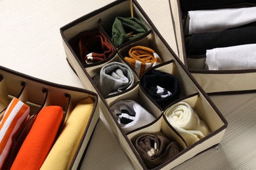
[[[256,44],[207,50],[205,65],[209,70],[256,69]]]

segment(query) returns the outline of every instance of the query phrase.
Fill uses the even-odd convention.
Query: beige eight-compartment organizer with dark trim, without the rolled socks
[[[78,18],[70,24],[64,25],[60,28],[62,35],[62,41],[66,57],[71,67],[74,69],[77,76],[79,76],[83,85],[92,90],[100,96],[100,109],[102,114],[106,118],[108,124],[116,134],[116,137],[125,150],[126,154],[131,159],[136,169],[152,169],[148,167],[138,154],[133,143],[135,138],[145,132],[163,132],[169,139],[175,139],[179,143],[181,152],[176,154],[173,158],[161,163],[160,165],[153,167],[153,169],[171,169],[181,164],[182,162],[200,154],[204,150],[212,148],[220,143],[224,131],[227,127],[227,122],[222,116],[221,112],[215,107],[209,97],[203,92],[202,88],[194,80],[194,78],[188,73],[184,65],[179,61],[179,58],[175,56],[171,48],[161,37],[156,27],[152,24],[148,16],[141,9],[137,1],[133,1],[132,9],[135,18],[138,18],[142,24],[145,25],[147,31],[131,41],[124,42],[121,45],[114,45],[112,41],[111,27],[117,16],[129,17],[131,16],[131,1],[115,1],[110,3],[101,9],[95,10],[90,14]],[[77,35],[80,35],[83,31],[95,31],[99,30],[106,35],[108,42],[112,44],[114,52],[108,58],[103,61],[95,63],[83,63],[79,58],[79,53],[74,49],[73,42]],[[83,44],[79,44],[81,47]],[[146,69],[146,71],[140,75],[137,69],[134,69],[129,65],[129,62],[125,60],[128,51],[133,46],[146,46],[153,49],[161,58],[161,63]],[[78,54],[78,55],[77,55]],[[122,90],[122,92],[106,94],[102,89],[107,88],[108,84],[103,84],[103,88],[95,84],[95,77],[99,75],[108,64],[119,63],[119,65],[126,65],[131,69],[133,84],[129,88]],[[128,70],[129,70],[128,69]],[[156,103],[142,88],[141,78],[147,73],[153,71],[161,71],[169,75],[174,75],[179,80],[181,95],[179,99],[170,101],[168,105],[160,107],[159,103]],[[117,121],[116,115],[112,111],[111,107],[118,101],[132,100],[139,103],[148,112],[156,118],[153,122],[144,124],[140,127],[125,132]],[[177,130],[172,127],[167,118],[163,115],[167,112],[168,108],[179,101],[185,101],[189,103],[193,109],[198,112],[200,119],[207,124],[211,133],[206,135],[202,139],[195,143],[188,144],[188,141],[182,137]]]

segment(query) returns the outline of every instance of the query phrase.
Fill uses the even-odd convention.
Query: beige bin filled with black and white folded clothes
[[[175,23],[173,29],[179,48],[178,56],[203,90],[207,93],[255,90],[256,82],[253,77],[256,67],[250,60],[249,64],[245,64],[248,50],[240,50],[244,54],[239,55],[240,59],[235,58],[240,46],[244,48],[244,45],[255,44],[250,40],[254,38],[255,20],[250,19],[246,12],[255,11],[253,8],[256,4],[251,1],[169,2]],[[198,22],[199,18],[204,20]],[[207,18],[208,22],[205,22]],[[219,22],[215,23],[218,19]],[[239,33],[236,34],[236,31]],[[217,69],[208,67],[211,54],[215,51],[218,53],[213,56],[219,59],[219,63],[217,59],[213,63],[218,63]]]

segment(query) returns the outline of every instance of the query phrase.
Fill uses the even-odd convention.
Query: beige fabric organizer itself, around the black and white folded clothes
[[[182,19],[186,12],[181,11],[179,0],[170,0],[169,3],[174,23],[173,29],[175,30],[177,46],[179,48],[178,56],[184,61],[184,64],[200,86],[202,86],[203,90],[207,93],[255,90],[256,81],[253,77],[255,77],[256,69],[209,71],[204,69],[205,56],[195,59],[193,56],[186,55],[184,42],[186,27],[184,25],[187,25],[187,23],[186,20]],[[240,6],[233,5],[236,8],[252,6],[255,5],[250,5],[249,3],[244,3]]]

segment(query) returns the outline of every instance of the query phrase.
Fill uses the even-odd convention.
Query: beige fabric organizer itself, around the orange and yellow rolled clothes
[[[70,113],[79,101],[86,99],[87,97],[92,97],[95,100],[95,105],[91,112],[87,127],[81,132],[83,134],[81,141],[79,141],[75,156],[74,158],[71,158],[72,161],[70,167],[68,167],[69,169],[77,169],[91,135],[93,134],[96,123],[98,122],[98,95],[89,90],[54,84],[52,82],[33,78],[32,76],[24,75],[1,66],[0,92],[0,115],[3,114],[4,110],[14,97],[30,106],[30,119],[28,120],[28,123],[26,123],[26,126],[22,128],[22,133],[19,135],[17,143],[13,146],[8,163],[5,165],[5,169],[11,167],[11,163],[26,135],[28,135],[28,131],[32,127],[39,110],[49,105],[62,107],[64,111],[64,119],[62,120],[62,126],[60,126],[59,129],[59,131],[61,131],[66,120],[68,120]]]

